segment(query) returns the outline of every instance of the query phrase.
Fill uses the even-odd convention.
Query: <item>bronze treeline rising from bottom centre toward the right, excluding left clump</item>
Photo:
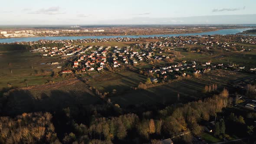
[[[167,107],[151,118],[139,118],[135,114],[121,115],[111,118],[94,118],[88,128],[90,141],[111,143],[113,140],[129,141],[131,133],[138,135],[139,142],[158,141],[159,137],[175,137],[183,134],[177,141],[184,143],[192,141],[192,134],[200,134],[202,121],[209,121],[222,108],[231,103],[226,89],[220,95],[207,98],[205,101],[195,101],[181,107]],[[130,135],[129,135],[130,134]],[[175,139],[174,139],[175,141]],[[138,142],[138,141],[137,141]]]

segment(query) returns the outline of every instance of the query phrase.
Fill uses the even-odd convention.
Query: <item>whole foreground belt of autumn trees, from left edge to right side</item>
[[[192,134],[198,135],[203,131],[200,125],[202,121],[209,121],[211,116],[230,105],[228,95],[228,91],[224,89],[220,95],[204,101],[168,106],[154,114],[144,112],[140,117],[132,113],[121,115],[121,108],[112,109],[117,107],[114,105],[108,107],[111,111],[116,111],[116,114],[119,113],[117,116],[103,112],[109,109],[106,107],[91,108],[92,111],[87,112],[65,108],[65,117],[57,116],[55,126],[52,115],[48,112],[24,113],[16,118],[1,117],[0,143],[59,143],[59,140],[65,144],[144,143],[170,136],[176,142],[189,143],[192,141]],[[58,133],[55,132],[55,127],[58,128]],[[66,131],[64,136],[60,134],[63,131],[60,131],[60,127]],[[178,137],[181,134],[183,135]]]

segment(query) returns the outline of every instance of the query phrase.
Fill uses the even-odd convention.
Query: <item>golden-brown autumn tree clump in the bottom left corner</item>
[[[48,112],[23,113],[16,118],[0,117],[0,143],[59,142]]]

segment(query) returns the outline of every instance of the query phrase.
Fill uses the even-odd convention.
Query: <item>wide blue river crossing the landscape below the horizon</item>
[[[248,28],[249,29],[249,28]],[[169,35],[127,35],[127,36],[40,36],[40,37],[23,37],[23,38],[7,38],[0,39],[0,43],[14,43],[14,42],[33,42],[38,41],[40,39],[45,40],[65,40],[65,39],[103,39],[103,38],[139,38],[139,37],[154,37],[154,36],[202,36],[202,35],[231,35],[236,33],[241,33],[248,29],[222,29],[212,32],[204,32],[204,33],[183,33],[183,34],[169,34]],[[252,35],[256,36],[256,35]]]

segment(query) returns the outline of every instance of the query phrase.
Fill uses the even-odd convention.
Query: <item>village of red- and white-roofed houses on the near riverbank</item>
[[[131,38],[111,38],[111,39],[80,39],[71,41],[46,41],[41,43],[62,43],[63,47],[41,47],[31,50],[31,52],[41,52],[42,56],[58,56],[66,60],[69,64],[66,67],[57,66],[62,69],[61,73],[83,73],[83,72],[102,72],[108,69],[118,69],[121,66],[151,65],[151,68],[144,70],[151,74],[151,81],[158,82],[161,79],[174,79],[179,76],[192,75],[197,73],[209,72],[213,69],[225,69],[236,72],[255,73],[255,67],[245,67],[244,65],[234,65],[233,63],[200,62],[186,60],[175,49],[185,49],[187,52],[200,52],[213,55],[213,48],[222,49],[230,52],[251,51],[236,43],[220,43],[211,41],[199,42],[198,39],[207,38],[201,36],[194,37],[157,37],[151,38],[155,42],[141,43],[141,39]],[[186,40],[182,40],[186,39]],[[187,40],[191,39],[191,40]],[[214,37],[211,37],[214,39]],[[83,43],[100,42],[134,42],[131,46],[83,46]],[[240,38],[242,43],[255,44],[254,39]],[[30,43],[35,45],[38,42]],[[74,45],[74,43],[76,45]],[[194,46],[199,45],[197,48]],[[177,54],[177,55],[175,55]],[[216,56],[222,57],[222,56]],[[163,63],[164,62],[164,63]],[[161,63],[161,65],[155,65]],[[52,62],[52,65],[58,65]]]

